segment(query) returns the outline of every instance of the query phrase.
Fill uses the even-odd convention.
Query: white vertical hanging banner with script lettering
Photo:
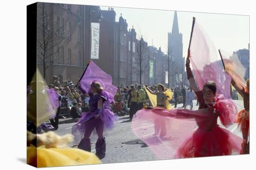
[[[99,59],[100,23],[91,23],[91,59]]]

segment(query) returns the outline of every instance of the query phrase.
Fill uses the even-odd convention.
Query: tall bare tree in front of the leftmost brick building
[[[46,78],[46,70],[59,61],[59,58],[54,59],[54,55],[64,46],[64,26],[66,23],[55,22],[53,17],[47,13],[46,3],[38,3],[38,23],[37,23],[37,47],[39,51],[37,57],[39,63],[43,65],[43,78]],[[56,36],[60,35],[60,36]],[[63,59],[64,62],[64,59]]]

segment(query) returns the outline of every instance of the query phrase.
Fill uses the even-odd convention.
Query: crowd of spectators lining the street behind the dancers
[[[157,85],[147,86],[153,92],[157,91]],[[75,87],[73,82],[67,81],[60,83],[60,78],[54,76],[52,83],[48,85],[49,88],[54,89],[58,94],[59,98],[59,109],[58,117],[72,117],[80,118],[82,112],[89,111],[88,101],[89,98],[83,95],[78,88]],[[118,90],[115,94],[115,104],[112,103],[111,109],[114,113],[118,115],[124,115],[126,113],[136,112],[143,106],[152,106],[148,98],[148,94],[145,91],[144,84],[135,84],[126,87],[117,86]],[[170,103],[177,104],[183,103],[185,105],[186,89],[185,88],[170,88],[174,92],[174,96]],[[135,106],[136,108],[131,108]],[[132,115],[130,118],[132,118]],[[54,122],[53,122],[54,123]]]

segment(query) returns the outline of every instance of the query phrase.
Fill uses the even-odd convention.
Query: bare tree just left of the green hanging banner
[[[142,36],[138,36],[138,40],[135,43],[135,55],[133,56],[133,74],[141,77],[148,71],[149,66],[149,51],[148,43],[144,41]]]

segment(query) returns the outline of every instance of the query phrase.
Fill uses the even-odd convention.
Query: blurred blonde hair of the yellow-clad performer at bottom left
[[[67,144],[74,141],[74,136],[72,134],[59,136],[52,131],[42,134],[27,131],[27,146],[32,144],[33,140],[37,140],[37,147],[45,145],[46,148],[67,148]]]

